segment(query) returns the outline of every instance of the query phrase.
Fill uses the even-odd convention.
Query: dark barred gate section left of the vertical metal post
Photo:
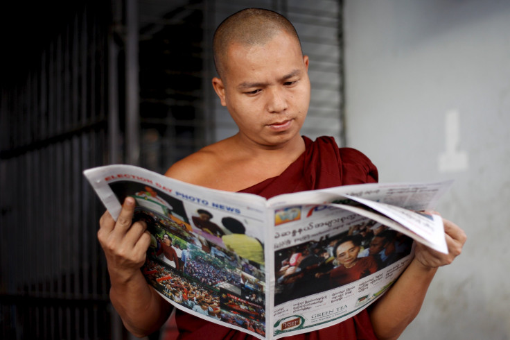
[[[41,19],[10,22],[34,30],[11,31],[14,44],[37,48],[2,65],[0,337],[108,339],[107,271],[96,241],[102,209],[81,172],[112,155],[112,8],[76,3],[62,17],[37,9]]]

